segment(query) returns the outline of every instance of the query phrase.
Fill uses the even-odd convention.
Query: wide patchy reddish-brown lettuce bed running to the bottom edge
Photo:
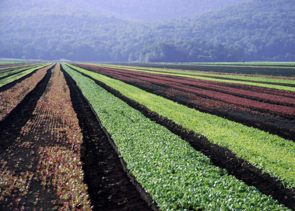
[[[46,69],[41,72],[43,76],[45,73]],[[7,204],[10,209],[42,210],[46,208],[42,197],[55,192],[52,210],[91,210],[80,161],[82,142],[70,90],[60,65],[55,65],[33,118],[22,127],[13,145],[0,155],[1,207],[12,199]],[[34,200],[27,203],[26,198]]]

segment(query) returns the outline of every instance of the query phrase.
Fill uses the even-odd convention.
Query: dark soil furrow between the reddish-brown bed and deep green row
[[[123,170],[120,158],[76,82],[62,71],[83,133],[81,160],[93,210],[151,210]]]

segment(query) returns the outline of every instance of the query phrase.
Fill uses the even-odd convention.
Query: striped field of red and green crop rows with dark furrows
[[[0,210],[295,210],[295,82],[0,63]]]

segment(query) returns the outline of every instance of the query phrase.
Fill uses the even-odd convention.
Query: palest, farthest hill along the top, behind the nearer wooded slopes
[[[216,10],[250,0],[1,0],[2,15],[95,14],[123,20],[158,21]]]

